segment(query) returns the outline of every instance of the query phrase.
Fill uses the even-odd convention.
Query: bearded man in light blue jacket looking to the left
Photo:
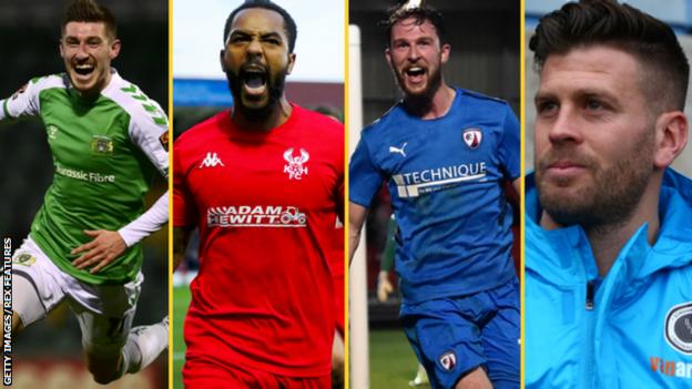
[[[540,20],[530,49],[527,388],[692,387],[688,60],[673,31],[611,0]]]

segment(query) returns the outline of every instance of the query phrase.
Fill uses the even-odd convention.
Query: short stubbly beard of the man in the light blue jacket
[[[627,223],[641,201],[653,174],[653,131],[643,133],[613,166],[603,168],[573,149],[554,147],[537,161],[536,184],[541,207],[562,226],[593,229]],[[553,162],[567,158],[583,165],[592,183],[566,196],[543,174]],[[559,185],[558,185],[559,186]]]

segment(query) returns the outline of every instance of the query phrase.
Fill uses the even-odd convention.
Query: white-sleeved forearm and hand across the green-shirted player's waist
[[[73,255],[83,253],[72,262],[72,265],[78,269],[90,268],[89,273],[95,274],[120,257],[128,247],[161,229],[167,221],[169,192],[161,195],[151,208],[120,231],[84,231],[84,234],[93,239],[70,253]]]

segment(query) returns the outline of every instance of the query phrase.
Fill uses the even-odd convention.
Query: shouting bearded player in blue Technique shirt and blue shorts
[[[387,183],[406,335],[434,388],[519,388],[519,288],[510,254],[519,123],[500,100],[449,86],[441,14],[390,12],[385,55],[404,100],[363,130],[350,161],[349,254]]]

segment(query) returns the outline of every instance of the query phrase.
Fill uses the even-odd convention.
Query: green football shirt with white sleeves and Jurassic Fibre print
[[[118,231],[139,217],[156,170],[167,176],[169,125],[161,106],[115,71],[95,101],[81,99],[62,73],[33,79],[0,104],[0,120],[40,116],[53,157],[53,182],[31,225],[33,240],[83,281],[134,279],[140,244],[94,275],[77,269],[79,255],[70,252],[91,240],[84,229]]]

